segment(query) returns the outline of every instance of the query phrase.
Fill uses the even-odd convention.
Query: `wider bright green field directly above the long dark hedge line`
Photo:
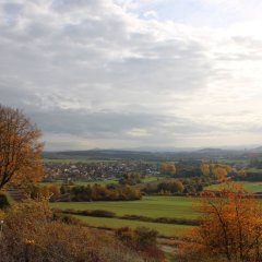
[[[115,212],[117,216],[141,215],[152,218],[196,219],[199,214],[194,211],[194,203],[196,199],[186,196],[144,196],[139,201],[56,202],[50,205],[61,210],[105,210]]]

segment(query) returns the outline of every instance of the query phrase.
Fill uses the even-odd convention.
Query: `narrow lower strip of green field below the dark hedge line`
[[[93,227],[103,227],[103,228],[119,228],[119,227],[127,227],[127,226],[131,228],[148,227],[151,229],[157,230],[160,236],[165,236],[165,237],[172,237],[172,236],[180,237],[184,233],[193,228],[192,226],[184,226],[184,225],[171,225],[171,224],[80,216],[80,215],[73,215],[73,216]]]

